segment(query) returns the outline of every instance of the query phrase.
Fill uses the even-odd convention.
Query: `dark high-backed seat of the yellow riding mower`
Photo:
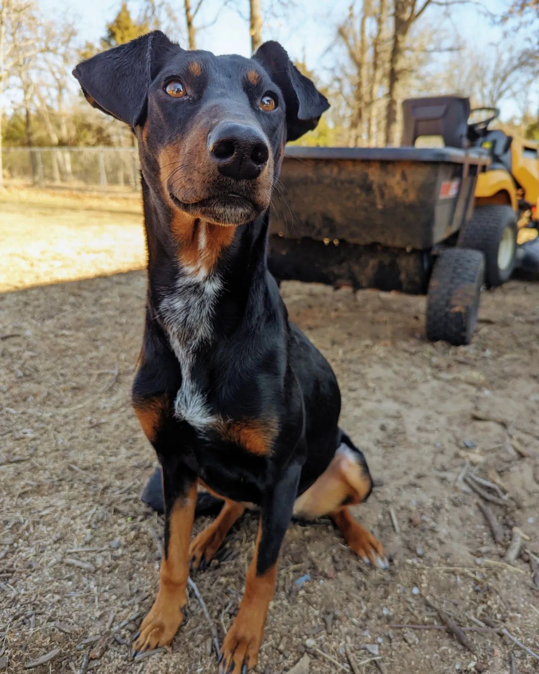
[[[468,147],[470,100],[461,96],[407,98],[402,102],[402,146],[414,146],[424,135],[443,138],[450,148]]]

